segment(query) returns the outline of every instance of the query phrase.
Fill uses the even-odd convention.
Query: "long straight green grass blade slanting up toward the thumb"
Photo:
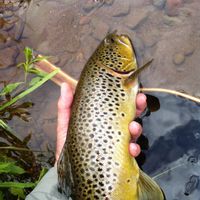
[[[59,72],[59,68],[57,68],[56,70],[54,70],[53,72],[51,72],[50,74],[48,74],[47,76],[45,76],[42,80],[40,80],[38,83],[36,83],[35,85],[33,85],[32,87],[28,88],[27,90],[25,90],[24,92],[20,93],[18,96],[14,97],[13,99],[11,99],[10,101],[6,102],[5,104],[3,104],[0,107],[0,111],[4,110],[5,108],[7,108],[8,106],[12,105],[13,103],[15,103],[16,101],[18,101],[19,99],[25,97],[26,95],[28,95],[29,93],[33,92],[34,90],[36,90],[38,87],[40,87],[42,84],[44,84],[46,81],[48,81],[49,79],[51,79],[55,74],[57,74]]]

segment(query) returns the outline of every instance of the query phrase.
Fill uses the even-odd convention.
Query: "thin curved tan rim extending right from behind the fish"
[[[194,101],[196,103],[200,103],[200,99],[197,97],[194,97],[192,95],[189,94],[185,94],[182,92],[178,92],[175,90],[170,90],[170,89],[164,89],[164,88],[140,88],[139,89],[140,92],[162,92],[162,93],[168,93],[168,94],[173,94],[173,95],[177,95],[186,99],[189,99],[191,101]]]

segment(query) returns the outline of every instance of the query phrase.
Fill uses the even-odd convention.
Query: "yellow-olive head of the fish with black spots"
[[[116,32],[108,34],[97,49],[97,59],[104,66],[119,72],[129,73],[137,69],[131,40]]]

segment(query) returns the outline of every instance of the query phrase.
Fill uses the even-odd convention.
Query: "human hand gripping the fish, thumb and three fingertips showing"
[[[67,83],[63,83],[61,86],[61,96],[58,100],[58,124],[57,124],[57,143],[56,143],[56,162],[62,151],[65,143],[68,123],[70,118],[71,104],[73,100],[73,91]],[[139,116],[146,108],[146,96],[142,93],[137,95],[136,99],[136,116]],[[132,141],[136,141],[142,133],[142,127],[139,123],[132,121],[129,125]],[[140,154],[140,146],[135,142],[131,142],[129,145],[129,152],[133,157]]]

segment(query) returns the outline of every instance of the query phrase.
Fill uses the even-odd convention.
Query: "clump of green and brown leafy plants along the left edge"
[[[29,121],[28,108],[33,103],[20,101],[51,79],[59,69],[45,74],[37,70],[34,64],[47,57],[35,57],[33,50],[28,47],[24,49],[24,55],[25,62],[18,65],[25,73],[24,80],[4,82],[0,90],[0,200],[24,199],[47,171],[36,161],[34,151],[28,147],[31,133],[23,140],[19,139],[8,121],[13,116]],[[33,76],[29,77],[29,74]]]

